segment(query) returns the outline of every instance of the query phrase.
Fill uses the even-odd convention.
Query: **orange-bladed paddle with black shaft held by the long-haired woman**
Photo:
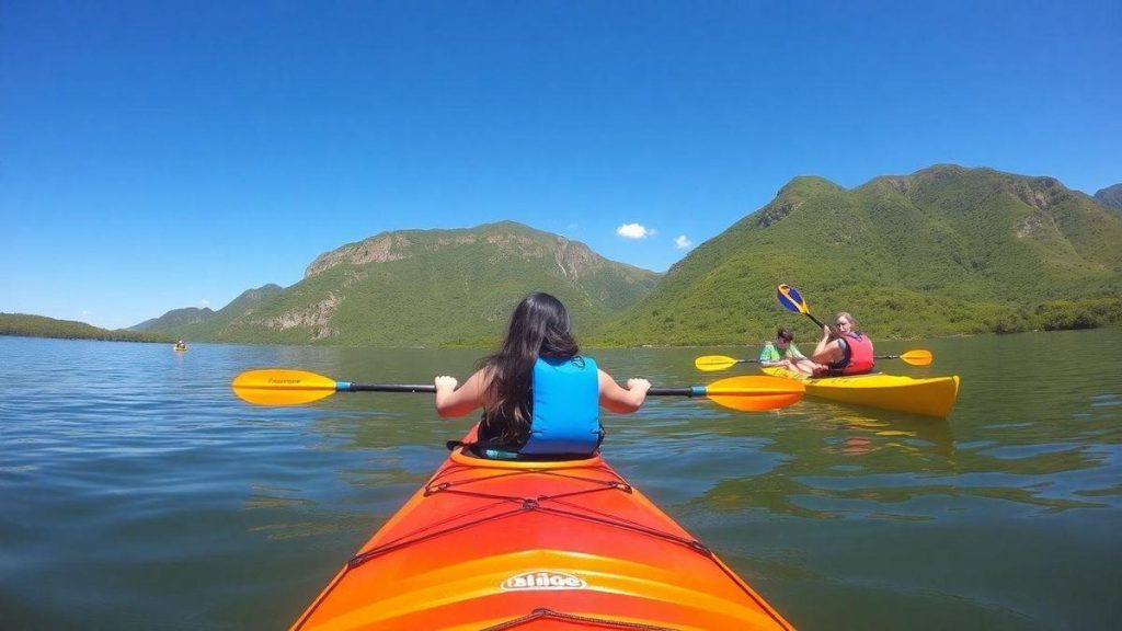
[[[337,392],[436,392],[436,386],[432,384],[337,382],[315,373],[284,368],[247,371],[238,375],[230,387],[243,401],[258,405],[300,405],[327,399]],[[652,396],[705,396],[726,408],[743,412],[760,412],[787,408],[802,399],[804,392],[803,385],[793,379],[742,375],[709,385],[652,387],[646,393]]]

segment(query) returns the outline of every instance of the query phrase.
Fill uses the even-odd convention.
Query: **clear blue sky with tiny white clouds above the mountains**
[[[797,175],[1094,193],[1119,112],[1118,1],[11,0],[0,311],[127,327],[504,219],[665,271]]]

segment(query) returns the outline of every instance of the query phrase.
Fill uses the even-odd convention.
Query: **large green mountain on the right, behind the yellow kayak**
[[[797,177],[706,241],[619,319],[603,344],[756,344],[784,311],[775,285],[812,313],[850,311],[874,338],[1122,321],[1122,217],[1051,177],[939,165],[846,190]]]

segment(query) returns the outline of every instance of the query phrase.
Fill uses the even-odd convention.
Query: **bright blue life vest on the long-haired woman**
[[[600,377],[591,357],[539,357],[534,363],[527,455],[590,455],[600,445]]]

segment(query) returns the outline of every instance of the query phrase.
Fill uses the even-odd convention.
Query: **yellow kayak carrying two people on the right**
[[[773,366],[760,369],[772,376],[802,382],[809,396],[927,417],[947,417],[958,396],[958,375],[913,378],[873,373],[845,377],[809,377]]]

